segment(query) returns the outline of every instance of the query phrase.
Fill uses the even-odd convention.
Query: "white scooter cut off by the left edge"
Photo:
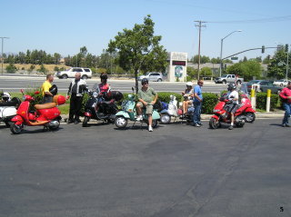
[[[10,120],[16,115],[17,108],[21,101],[14,97],[11,99],[10,94],[0,94],[2,101],[0,101],[0,122],[4,122],[6,127],[10,127]]]

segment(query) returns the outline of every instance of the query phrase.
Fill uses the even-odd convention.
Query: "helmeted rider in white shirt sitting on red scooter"
[[[226,111],[230,113],[230,126],[228,129],[232,130],[234,129],[235,113],[238,108],[238,92],[236,91],[236,84],[229,83],[227,90],[227,99],[230,102],[229,104],[227,104],[226,108]]]

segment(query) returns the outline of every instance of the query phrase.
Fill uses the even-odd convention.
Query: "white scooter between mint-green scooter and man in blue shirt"
[[[177,106],[176,96],[170,95],[170,102],[168,104],[168,108],[163,109],[160,112],[161,113],[160,122],[165,123],[165,124],[171,123],[171,117],[175,117],[175,120],[177,117],[179,117],[180,119],[182,119],[182,121],[186,120],[187,123],[191,123],[193,121],[193,112],[194,112],[194,107],[193,105],[190,105],[188,107],[188,113],[186,114],[186,116],[183,116],[182,109],[179,109]]]

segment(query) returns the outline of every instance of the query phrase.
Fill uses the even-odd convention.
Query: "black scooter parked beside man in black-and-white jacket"
[[[103,94],[89,92],[88,94],[90,97],[85,104],[85,117],[82,126],[88,126],[90,119],[114,123],[115,113],[118,112],[116,102],[123,98],[123,94],[118,91]]]

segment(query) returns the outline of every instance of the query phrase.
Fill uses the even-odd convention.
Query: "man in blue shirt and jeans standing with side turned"
[[[202,125],[201,123],[201,107],[202,107],[202,90],[201,87],[203,86],[203,80],[199,80],[197,85],[194,88],[194,99],[193,104],[195,107],[194,117],[193,117],[193,125],[196,127],[200,127]]]

